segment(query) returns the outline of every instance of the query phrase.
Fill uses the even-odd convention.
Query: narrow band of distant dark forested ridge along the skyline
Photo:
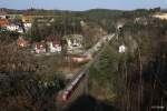
[[[110,10],[110,9],[90,9],[86,11],[69,11],[69,10],[45,10],[45,9],[27,9],[27,10],[14,10],[0,8],[0,11],[4,11],[9,14],[21,14],[24,12],[29,12],[29,14],[63,14],[63,13],[73,13],[73,14],[86,14],[86,16],[96,16],[96,17],[111,17],[111,16],[125,16],[125,14],[134,14],[134,16],[147,16],[150,12],[159,11],[159,8],[155,9],[137,9],[137,10]]]

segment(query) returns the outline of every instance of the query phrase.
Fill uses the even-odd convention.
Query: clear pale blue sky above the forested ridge
[[[0,0],[0,8],[10,9],[60,9],[82,11],[88,9],[150,9],[167,8],[167,0]]]

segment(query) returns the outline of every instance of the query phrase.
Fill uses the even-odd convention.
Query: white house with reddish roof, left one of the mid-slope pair
[[[35,52],[36,53],[46,53],[47,52],[47,50],[46,50],[46,43],[43,41],[37,42],[35,44]]]

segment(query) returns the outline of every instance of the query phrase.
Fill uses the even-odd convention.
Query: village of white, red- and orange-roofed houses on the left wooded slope
[[[29,38],[26,38],[26,33],[32,28],[35,18],[38,18],[40,23],[47,23],[47,26],[50,26],[53,21],[53,17],[49,17],[48,21],[48,18],[46,19],[42,16],[7,14],[1,11],[0,32],[10,31],[19,33],[19,38],[16,41],[18,47],[29,48],[35,54],[49,56],[50,53],[61,53],[62,50],[70,54],[81,54],[84,52],[84,36],[81,34],[73,33],[61,38],[50,34],[40,41],[31,41]]]

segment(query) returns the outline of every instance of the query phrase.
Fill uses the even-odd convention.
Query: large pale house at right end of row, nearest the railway
[[[81,34],[65,36],[63,39],[67,41],[67,51],[69,53],[82,52],[82,49],[84,49],[82,39],[84,39],[84,37]]]

